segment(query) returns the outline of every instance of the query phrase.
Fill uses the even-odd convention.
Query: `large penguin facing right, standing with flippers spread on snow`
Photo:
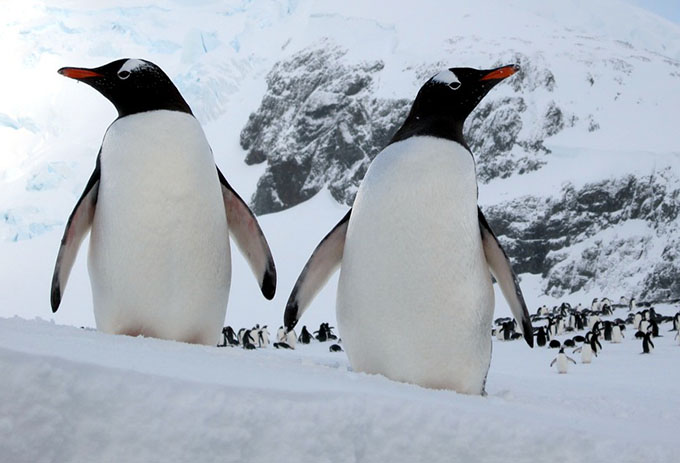
[[[336,313],[354,371],[482,394],[491,274],[533,345],[519,281],[477,206],[475,160],[463,137],[484,95],[518,70],[445,69],[422,86],[352,209],[302,270],[286,305],[288,329],[342,262]]]

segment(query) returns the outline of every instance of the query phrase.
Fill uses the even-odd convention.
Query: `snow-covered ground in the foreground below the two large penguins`
[[[657,307],[675,313],[675,307]],[[623,309],[615,316],[625,318]],[[555,350],[494,341],[487,397],[351,372],[295,351],[111,336],[0,319],[7,462],[675,462],[680,346],[630,328],[558,374]],[[578,355],[570,354],[578,361]]]

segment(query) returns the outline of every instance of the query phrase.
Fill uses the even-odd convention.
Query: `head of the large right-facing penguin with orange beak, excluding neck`
[[[511,64],[496,69],[450,68],[430,78],[413,102],[416,117],[447,117],[462,123],[500,81],[519,71]]]

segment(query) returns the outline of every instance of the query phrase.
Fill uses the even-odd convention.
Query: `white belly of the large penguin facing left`
[[[195,118],[153,111],[109,127],[88,269],[99,330],[217,344],[229,238],[215,162]]]

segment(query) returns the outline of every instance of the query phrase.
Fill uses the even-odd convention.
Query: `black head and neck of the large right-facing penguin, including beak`
[[[519,71],[511,64],[497,69],[450,68],[425,82],[404,125],[390,143],[415,135],[431,135],[463,146],[463,123],[482,98],[501,80]]]

